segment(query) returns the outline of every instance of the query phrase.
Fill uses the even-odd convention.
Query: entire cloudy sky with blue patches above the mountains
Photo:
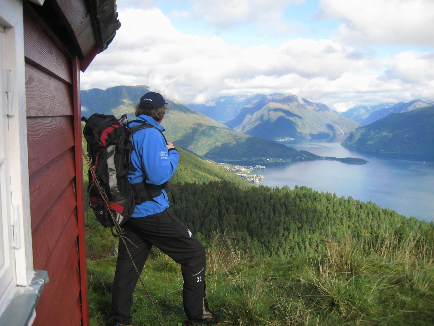
[[[291,93],[345,111],[434,99],[434,0],[118,0],[82,89],[148,85],[184,103]]]

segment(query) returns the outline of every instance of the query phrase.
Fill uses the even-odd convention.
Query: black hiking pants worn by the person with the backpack
[[[145,217],[131,217],[122,227],[124,236],[135,244],[134,246],[126,240],[139,272],[145,266],[152,245],[181,264],[184,311],[188,318],[201,319],[205,293],[205,249],[202,243],[168,210]],[[115,323],[132,323],[132,293],[137,281],[138,275],[124,243],[119,239],[112,294]]]

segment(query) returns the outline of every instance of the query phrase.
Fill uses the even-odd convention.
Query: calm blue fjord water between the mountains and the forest
[[[368,154],[341,146],[345,136],[327,140],[288,141],[285,145],[320,156],[358,157],[367,164],[337,161],[268,164],[259,173],[263,185],[308,186],[313,190],[372,201],[405,216],[431,221],[434,218],[434,158]],[[425,163],[423,163],[425,161]]]

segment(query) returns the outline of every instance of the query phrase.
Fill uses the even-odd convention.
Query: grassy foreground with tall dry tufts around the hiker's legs
[[[207,298],[219,325],[433,325],[432,247],[392,233],[325,240],[324,249],[252,258],[225,236],[204,241]],[[108,325],[115,258],[88,262],[91,325]],[[185,325],[178,264],[152,250],[141,274],[163,325]],[[140,283],[133,323],[158,321]]]

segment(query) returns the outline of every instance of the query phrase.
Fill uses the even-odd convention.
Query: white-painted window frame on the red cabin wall
[[[39,0],[34,0],[33,2],[40,5],[43,4],[43,1]],[[6,176],[6,184],[4,184],[3,180],[1,180],[0,184],[2,196],[3,193],[6,193],[6,200],[2,199],[1,205],[2,215],[0,223],[3,223],[4,227],[0,238],[8,238],[4,243],[9,246],[10,254],[9,260],[6,262],[7,266],[4,267],[13,276],[7,286],[3,284],[7,283],[7,281],[2,283],[0,279],[0,286],[3,287],[0,289],[1,324],[5,320],[10,322],[15,320],[11,320],[8,315],[13,310],[11,306],[22,300],[22,298],[17,298],[20,294],[29,293],[29,291],[34,292],[35,284],[42,281],[43,286],[48,281],[48,278],[46,277],[46,272],[36,273],[33,270],[22,0],[0,1],[0,28],[2,30],[4,28],[4,52],[6,59],[5,67],[0,67],[2,70],[2,81],[0,83],[2,96],[0,97],[3,99],[3,96],[6,95],[7,100],[6,107],[3,104],[1,106],[2,119],[0,119],[0,123],[3,120],[3,124],[0,126],[2,129],[0,130],[0,141],[4,142],[5,153],[2,166],[3,174]],[[3,47],[1,44],[0,46]],[[5,76],[6,80],[4,80]],[[2,160],[1,155],[0,160]],[[3,207],[3,204],[6,207]],[[2,229],[0,229],[1,232]],[[0,277],[2,276],[0,275]],[[33,302],[33,306],[30,308],[31,311],[28,317],[26,317],[26,321],[23,322],[24,324],[31,324],[33,322],[35,317],[34,306],[36,306],[42,286],[38,289],[36,299],[32,299],[35,302]],[[15,318],[15,316],[12,318]]]

